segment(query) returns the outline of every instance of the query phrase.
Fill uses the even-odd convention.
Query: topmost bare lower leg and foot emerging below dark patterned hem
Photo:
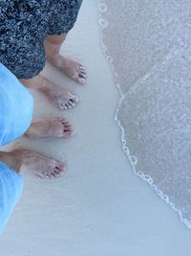
[[[86,71],[84,66],[71,58],[60,55],[60,48],[66,35],[49,35],[44,40],[44,48],[47,60],[63,72],[66,76],[84,83],[86,80]]]

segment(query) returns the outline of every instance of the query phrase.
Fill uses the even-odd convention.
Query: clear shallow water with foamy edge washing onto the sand
[[[134,172],[191,228],[189,1],[98,0],[102,48],[121,95]]]

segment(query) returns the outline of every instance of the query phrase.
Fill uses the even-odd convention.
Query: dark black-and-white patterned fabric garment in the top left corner
[[[67,34],[82,0],[0,0],[0,62],[18,79],[36,76],[46,62],[46,35]]]

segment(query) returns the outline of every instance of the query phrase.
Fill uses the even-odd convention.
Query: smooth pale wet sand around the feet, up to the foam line
[[[37,115],[64,114],[73,139],[26,140],[28,148],[68,160],[66,175],[43,180],[23,174],[25,190],[0,239],[1,256],[188,256],[191,231],[178,215],[133,175],[114,120],[117,89],[99,45],[96,0],[84,0],[63,53],[84,62],[85,86],[51,67],[46,74],[79,95],[60,112],[35,95]],[[50,75],[51,74],[51,75]],[[37,107],[36,107],[37,108]]]

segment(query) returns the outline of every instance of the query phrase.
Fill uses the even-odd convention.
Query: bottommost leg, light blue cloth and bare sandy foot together
[[[8,223],[13,208],[23,190],[23,179],[18,175],[21,166],[40,177],[63,175],[66,165],[33,151],[0,152],[0,234]]]

